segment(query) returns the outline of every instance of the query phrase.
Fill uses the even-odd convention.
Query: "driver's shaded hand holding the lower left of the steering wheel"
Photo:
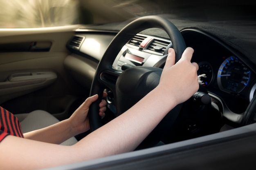
[[[103,97],[106,97],[108,94],[103,92]],[[83,133],[90,129],[89,119],[88,119],[88,111],[90,105],[98,99],[98,95],[88,97],[70,116],[69,121],[72,125],[72,130],[75,131],[76,134]],[[105,116],[107,102],[102,100],[99,103],[99,115],[103,118]]]

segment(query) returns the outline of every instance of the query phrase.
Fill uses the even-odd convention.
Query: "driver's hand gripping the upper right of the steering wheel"
[[[186,48],[180,60],[175,64],[175,51],[172,48],[168,49],[159,87],[164,94],[168,94],[176,101],[176,104],[189,99],[199,88],[198,64],[191,63],[193,52],[191,47]]]

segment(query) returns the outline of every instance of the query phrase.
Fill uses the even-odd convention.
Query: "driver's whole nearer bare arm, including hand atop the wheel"
[[[198,90],[198,65],[191,64],[192,54],[193,49],[186,49],[181,60],[174,65],[175,53],[169,50],[159,85],[124,114],[73,146],[7,136],[0,143],[0,153],[4,153],[0,154],[1,166],[46,168],[134,150],[173,107]],[[186,71],[188,69],[190,72]],[[86,106],[93,101],[92,97],[89,98]],[[13,155],[19,159],[13,159]]]

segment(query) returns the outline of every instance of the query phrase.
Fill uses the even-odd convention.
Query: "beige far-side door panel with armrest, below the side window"
[[[76,99],[87,97],[89,89],[63,65],[74,28],[0,29],[1,106],[14,114],[41,109],[65,119]]]

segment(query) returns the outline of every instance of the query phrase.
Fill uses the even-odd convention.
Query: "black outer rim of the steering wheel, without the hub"
[[[126,25],[126,27],[121,29],[121,31],[119,31],[115,38],[110,42],[110,45],[108,46],[105,54],[98,64],[92,81],[90,96],[98,94],[99,98],[97,101],[90,105],[88,112],[91,132],[102,126],[102,120],[98,114],[99,103],[101,102],[103,90],[106,88],[106,84],[101,79],[102,72],[114,73],[115,69],[112,68],[112,63],[114,62],[121,48],[133,36],[148,28],[160,28],[166,31],[169,38],[171,39],[173,45],[172,48],[175,50],[175,62],[181,58],[183,51],[186,49],[185,41],[177,27],[169,20],[160,16],[144,16],[137,18],[136,20]]]

